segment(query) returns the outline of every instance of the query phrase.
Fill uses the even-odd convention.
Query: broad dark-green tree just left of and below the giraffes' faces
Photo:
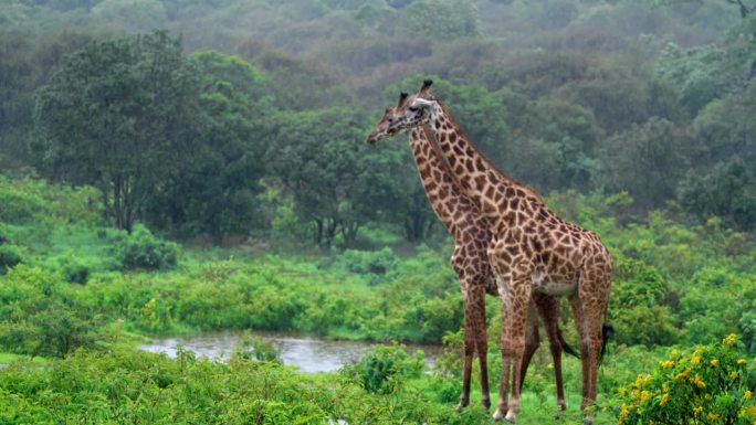
[[[292,193],[300,220],[314,224],[314,242],[330,246],[338,233],[349,245],[368,221],[387,216],[396,203],[395,150],[371,150],[364,120],[351,108],[272,117],[265,155],[267,174]]]

